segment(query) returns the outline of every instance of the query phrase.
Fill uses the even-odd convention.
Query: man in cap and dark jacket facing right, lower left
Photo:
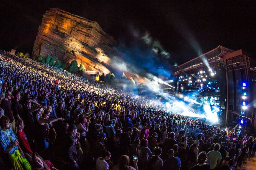
[[[76,141],[76,137],[78,138],[78,141]],[[70,124],[68,126],[67,140],[65,141],[63,149],[65,151],[64,157],[67,158],[71,169],[79,169],[77,164],[78,157],[76,152],[76,142],[79,142],[79,133],[77,133],[76,125]]]

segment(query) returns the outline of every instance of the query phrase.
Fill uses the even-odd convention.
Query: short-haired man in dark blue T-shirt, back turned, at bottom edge
[[[167,159],[163,163],[164,170],[170,170],[170,169],[180,170],[180,167],[181,167],[180,158],[174,157],[173,149],[170,149],[168,151],[168,156],[169,156],[169,159]]]

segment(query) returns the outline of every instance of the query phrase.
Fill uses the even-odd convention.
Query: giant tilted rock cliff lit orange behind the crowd
[[[52,8],[45,12],[38,28],[32,56],[56,56],[66,65],[76,59],[86,70],[106,75],[111,55],[115,53],[114,38],[95,21]],[[68,66],[68,65],[67,65]]]

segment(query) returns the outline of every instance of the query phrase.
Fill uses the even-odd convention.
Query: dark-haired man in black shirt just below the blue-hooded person
[[[127,128],[127,133],[122,133],[120,137],[120,152],[122,155],[129,155],[131,147],[132,128]]]

